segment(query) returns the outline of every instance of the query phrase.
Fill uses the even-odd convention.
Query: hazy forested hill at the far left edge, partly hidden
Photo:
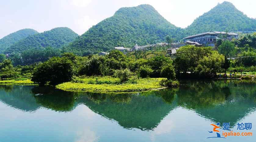
[[[29,35],[37,34],[38,32],[33,29],[21,29],[17,32],[13,32],[0,39],[0,53],[3,53],[5,49],[9,48],[15,42],[21,39],[25,39]]]

